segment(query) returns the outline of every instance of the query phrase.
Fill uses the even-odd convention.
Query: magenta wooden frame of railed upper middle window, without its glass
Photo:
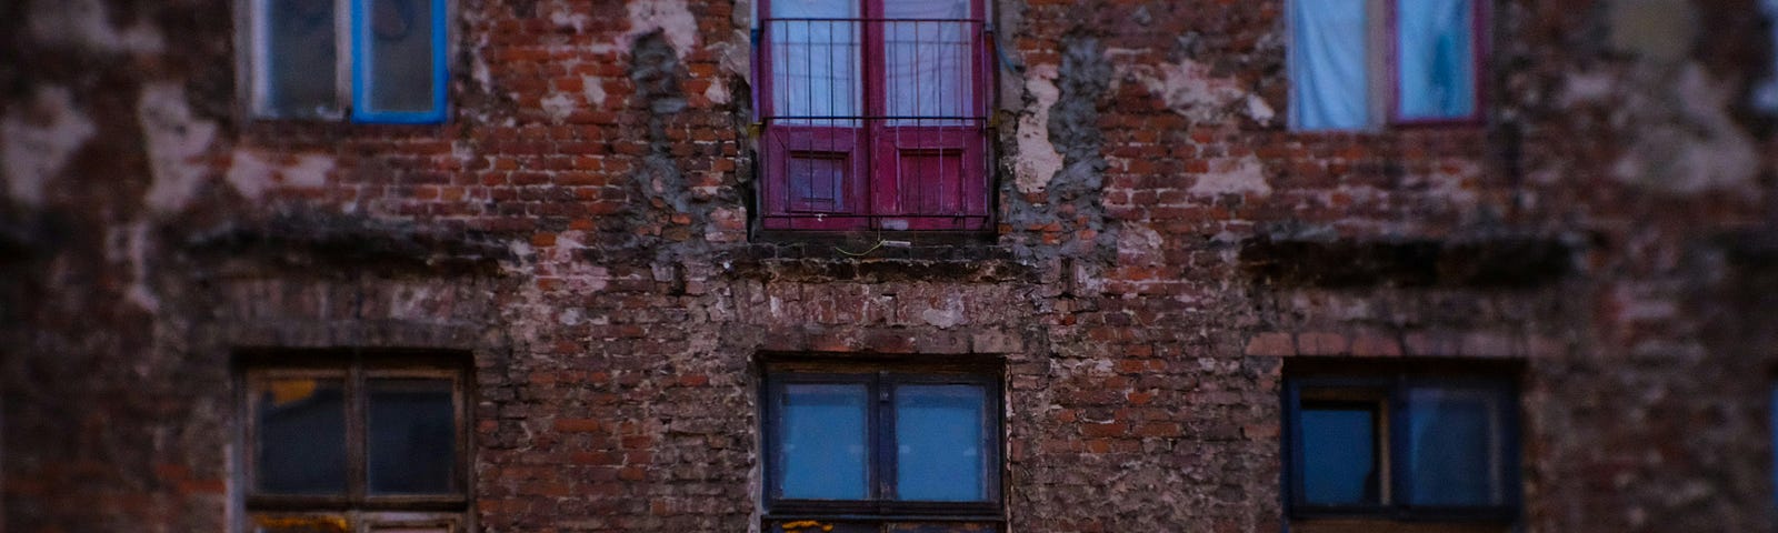
[[[775,108],[779,91],[775,87],[773,30],[779,21],[772,16],[772,0],[757,2],[754,9],[754,46],[752,68],[759,80],[754,92],[754,124],[759,151],[759,185],[754,187],[754,206],[759,210],[754,222],[763,233],[834,233],[834,231],[932,231],[932,233],[985,233],[994,229],[996,187],[994,187],[994,130],[992,105],[997,101],[997,37],[994,30],[992,0],[962,0],[971,14],[965,20],[973,46],[965,52],[971,64],[964,69],[971,94],[964,117],[909,117],[932,119],[957,124],[891,124],[889,96],[891,85],[885,69],[889,43],[885,41],[889,18],[884,2],[893,0],[852,0],[859,7],[857,23],[857,105],[855,115],[800,117],[779,115]],[[797,18],[788,18],[795,21]],[[788,89],[786,89],[788,91]],[[971,115],[973,114],[973,115]],[[829,124],[773,124],[775,121],[829,121]],[[855,126],[836,126],[836,123],[853,121]],[[914,131],[912,137],[903,131]],[[907,142],[901,146],[898,142]],[[782,146],[779,146],[782,144]],[[825,147],[825,149],[818,149]],[[837,203],[846,204],[832,211],[809,206],[807,199],[793,197],[797,190],[791,179],[795,153],[805,153],[802,160],[837,160],[834,169],[848,172],[841,176],[832,192]],[[901,165],[907,155],[937,155],[944,162],[946,153],[958,158],[957,197],[946,201],[948,192],[939,192],[939,203],[955,206],[925,213],[919,208],[905,208],[909,194],[903,190]],[[939,179],[942,181],[939,172]],[[919,178],[917,199],[926,199],[928,190],[939,190],[944,183],[925,183]]]

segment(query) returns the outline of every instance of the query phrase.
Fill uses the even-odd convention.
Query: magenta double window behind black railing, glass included
[[[987,229],[985,0],[761,0],[765,229]]]

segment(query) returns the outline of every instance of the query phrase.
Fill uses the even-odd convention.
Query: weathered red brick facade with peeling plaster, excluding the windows
[[[773,528],[793,355],[996,368],[1005,531],[1312,529],[1287,377],[1421,366],[1518,387],[1462,528],[1778,521],[1757,0],[1486,2],[1483,119],[1346,133],[1284,0],[997,0],[964,236],[757,231],[749,2],[453,0],[443,124],[254,117],[245,4],[0,2],[7,531],[240,528],[242,354],[322,350],[468,361],[480,531]]]

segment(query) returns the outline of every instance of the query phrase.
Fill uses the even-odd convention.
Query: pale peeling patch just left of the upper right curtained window
[[[1161,98],[1166,108],[1197,123],[1223,121],[1236,112],[1259,123],[1273,117],[1271,107],[1248,94],[1239,82],[1213,76],[1209,66],[1189,59],[1159,68],[1134,66],[1127,75]]]

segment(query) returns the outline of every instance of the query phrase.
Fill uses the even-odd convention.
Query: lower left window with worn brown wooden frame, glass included
[[[466,531],[461,364],[279,355],[242,371],[242,531]]]

